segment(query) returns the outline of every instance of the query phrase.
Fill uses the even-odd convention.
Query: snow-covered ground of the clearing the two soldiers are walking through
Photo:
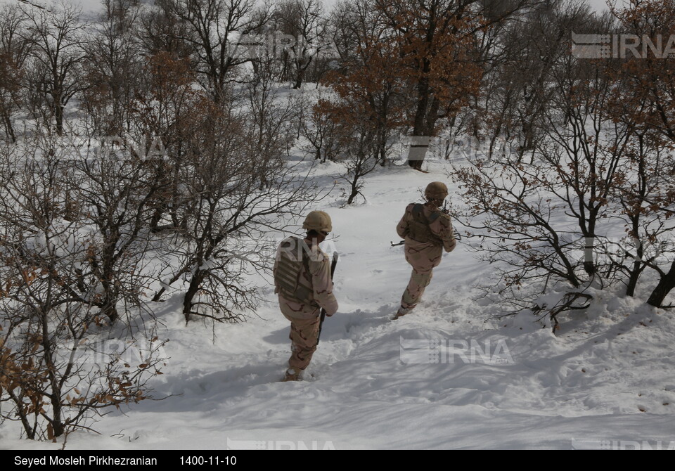
[[[271,285],[247,322],[185,325],[180,299],[158,307],[168,365],[155,397],[77,432],[68,449],[583,449],[675,448],[675,312],[620,290],[561,318],[553,335],[532,314],[498,318],[475,285],[491,273],[465,243],[444,255],[423,302],[391,321],[410,267],[395,226],[444,165],[429,174],[378,169],[364,195],[324,209],[326,250],[340,252],[321,344],[302,382],[279,382],[290,354],[288,321]],[[338,164],[319,164],[332,182]],[[455,197],[456,198],[456,197]],[[260,278],[259,281],[263,281]],[[642,285],[648,292],[649,283]],[[0,448],[56,449],[0,426]]]

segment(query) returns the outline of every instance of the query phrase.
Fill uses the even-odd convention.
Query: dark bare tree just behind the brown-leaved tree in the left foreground
[[[111,323],[120,318],[120,304],[124,313],[143,306],[150,276],[150,215],[162,184],[153,169],[162,155],[146,156],[145,147],[132,151],[116,144],[103,139],[93,153],[77,155],[72,170],[82,184],[69,188],[77,196],[68,200],[76,206],[70,213],[86,214],[98,233],[98,243],[87,252],[87,269],[98,280],[91,304]]]

